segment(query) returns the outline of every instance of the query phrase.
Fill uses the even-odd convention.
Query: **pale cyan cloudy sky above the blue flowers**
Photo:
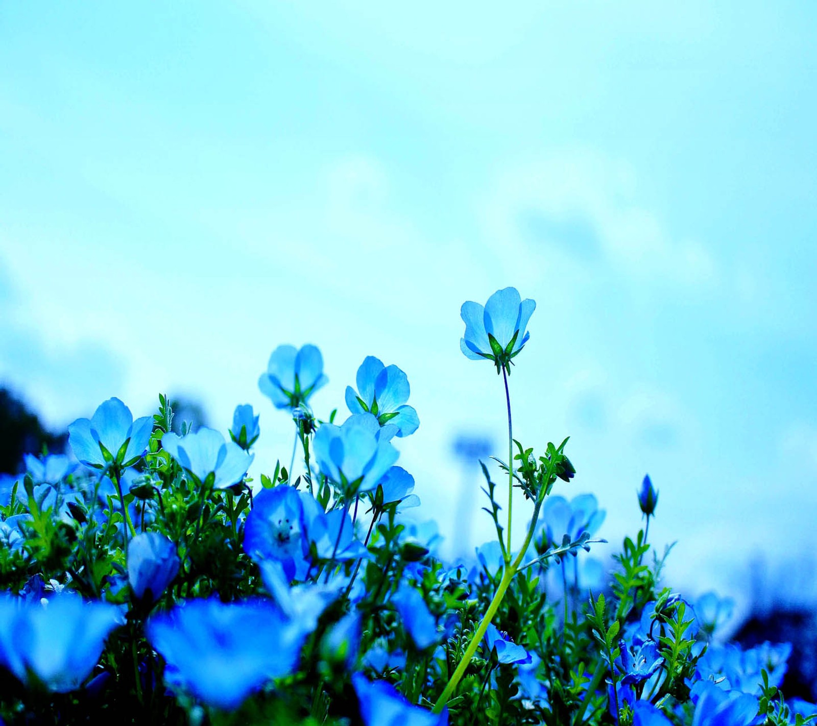
[[[55,429],[113,395],[135,415],[185,395],[222,431],[252,403],[258,473],[292,445],[257,389],[275,346],[319,345],[324,417],[376,355],[412,385],[421,514],[461,551],[492,528],[453,438],[502,456],[507,421],[459,308],[512,285],[537,302],[514,433],[571,437],[557,491],[596,494],[609,547],[649,472],[672,584],[745,600],[762,564],[815,598],[815,21],[809,2],[4,2],[0,385]]]

